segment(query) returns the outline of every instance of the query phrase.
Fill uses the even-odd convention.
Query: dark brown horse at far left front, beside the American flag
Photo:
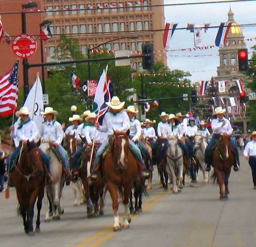
[[[10,172],[10,183],[16,188],[24,230],[28,235],[34,235],[33,218],[36,200],[36,232],[40,232],[40,210],[45,188],[45,171],[39,145],[40,141],[37,144],[28,141],[22,150],[18,163]]]

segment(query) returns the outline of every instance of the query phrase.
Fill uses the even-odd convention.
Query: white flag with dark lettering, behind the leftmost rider
[[[37,127],[39,127],[43,122],[43,116],[40,115],[40,112],[43,111],[43,90],[39,73],[37,73],[37,79],[29,91],[24,106],[31,112],[29,117],[36,122]]]

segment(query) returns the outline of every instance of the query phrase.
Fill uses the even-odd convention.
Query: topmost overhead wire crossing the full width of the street
[[[223,3],[232,3],[232,2],[251,2],[256,0],[222,0],[222,1],[205,1],[205,2],[183,2],[183,3],[173,3],[173,4],[154,4],[154,5],[138,5],[138,6],[115,6],[115,7],[97,7],[92,6],[92,8],[83,8],[83,9],[55,9],[55,10],[38,10],[32,9],[26,13],[45,13],[45,12],[72,12],[72,11],[81,11],[81,10],[105,10],[105,9],[135,9],[135,8],[146,8],[146,7],[170,7],[170,6],[189,6],[189,5],[198,5],[198,4],[223,4]],[[141,1],[135,1],[141,2]],[[111,6],[111,4],[109,4]],[[113,4],[112,4],[113,6]],[[22,13],[20,12],[2,12],[0,15],[6,14],[15,14]]]

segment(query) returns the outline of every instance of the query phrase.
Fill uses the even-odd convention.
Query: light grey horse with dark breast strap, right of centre
[[[171,176],[173,193],[178,193],[183,188],[183,151],[175,136],[168,139],[166,171]]]

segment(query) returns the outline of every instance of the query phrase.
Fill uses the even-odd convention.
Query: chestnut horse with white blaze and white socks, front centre
[[[104,159],[104,175],[112,199],[114,212],[113,230],[129,228],[130,210],[129,196],[132,186],[138,176],[138,164],[132,152],[129,149],[129,130],[114,131],[113,138],[110,139],[110,148]],[[118,216],[118,187],[124,189],[124,221],[121,225]]]

